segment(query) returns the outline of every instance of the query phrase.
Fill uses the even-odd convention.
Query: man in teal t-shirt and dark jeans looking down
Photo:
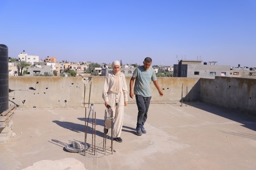
[[[135,94],[136,104],[138,107],[138,117],[137,117],[137,127],[136,133],[137,135],[142,135],[142,133],[146,133],[144,128],[144,124],[147,120],[148,108],[151,100],[151,91],[150,84],[151,80],[156,86],[158,93],[160,96],[163,96],[163,92],[159,87],[157,76],[152,67],[152,59],[146,57],[143,61],[143,66],[139,66],[133,72],[133,76],[130,80],[130,97],[133,98]],[[132,90],[134,80],[134,92]]]

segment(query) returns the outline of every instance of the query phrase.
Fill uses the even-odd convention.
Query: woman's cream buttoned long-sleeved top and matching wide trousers
[[[113,117],[114,117],[114,127],[113,127],[113,137],[118,138],[121,135],[122,126],[123,126],[123,113],[124,113],[124,102],[128,101],[128,90],[127,90],[127,83],[124,74],[119,75],[121,82],[119,82],[119,93],[113,93],[110,91],[115,75],[113,72],[109,73],[106,76],[103,91],[102,91],[102,98],[105,102],[109,102],[111,109],[113,110]],[[109,115],[110,110],[109,109]],[[111,120],[107,119],[106,127],[109,129],[111,127]]]

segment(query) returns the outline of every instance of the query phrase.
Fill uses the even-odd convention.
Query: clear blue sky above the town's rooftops
[[[256,67],[256,0],[1,0],[9,57]]]

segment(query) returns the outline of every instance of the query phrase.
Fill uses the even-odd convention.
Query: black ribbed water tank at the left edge
[[[0,112],[9,109],[8,47],[0,44]]]

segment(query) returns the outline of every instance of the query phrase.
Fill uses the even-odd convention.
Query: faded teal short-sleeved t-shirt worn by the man
[[[143,68],[143,66],[139,66],[134,70],[133,77],[136,77],[134,85],[134,94],[142,95],[144,97],[150,97],[151,80],[157,80],[157,76],[154,69],[152,67],[149,67],[149,69],[146,71]]]

